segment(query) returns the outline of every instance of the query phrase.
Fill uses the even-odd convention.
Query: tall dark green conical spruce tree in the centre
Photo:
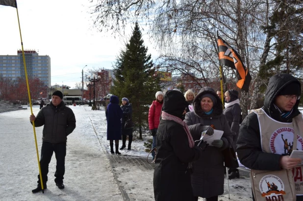
[[[147,54],[147,51],[136,22],[126,50],[121,50],[114,65],[115,80],[111,89],[111,93],[120,100],[126,97],[132,104],[132,120],[139,128],[140,139],[142,130],[148,127],[149,106],[156,91],[160,90],[159,79],[154,76],[151,54]]]

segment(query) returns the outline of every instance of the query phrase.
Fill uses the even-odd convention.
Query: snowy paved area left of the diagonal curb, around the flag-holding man
[[[83,107],[72,109],[77,122],[76,129],[68,136],[65,189],[58,189],[54,183],[56,160],[53,156],[44,194],[31,193],[37,185],[39,169],[30,110],[0,113],[1,201],[123,201],[88,114]],[[34,107],[33,113],[38,112],[39,108]],[[36,128],[39,155],[42,128]]]

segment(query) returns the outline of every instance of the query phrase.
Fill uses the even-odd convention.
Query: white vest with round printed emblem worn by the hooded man
[[[257,114],[260,127],[261,147],[263,152],[289,156],[293,149],[303,150],[303,116],[299,114],[292,123],[279,122],[264,112],[253,110]],[[294,141],[297,134],[297,141]],[[292,169],[297,195],[303,195],[303,165]]]

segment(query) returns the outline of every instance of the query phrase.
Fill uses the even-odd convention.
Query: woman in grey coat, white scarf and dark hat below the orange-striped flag
[[[236,150],[236,143],[240,129],[240,100],[238,99],[239,92],[236,90],[228,90],[225,92],[225,109],[223,114],[226,116],[230,130],[235,133],[233,136],[233,148]],[[239,170],[237,168],[229,168],[228,179],[239,178]]]

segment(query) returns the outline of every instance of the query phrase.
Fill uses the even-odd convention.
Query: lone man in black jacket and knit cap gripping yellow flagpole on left
[[[57,165],[55,172],[55,183],[59,189],[64,188],[63,176],[65,173],[65,156],[67,135],[71,134],[76,128],[76,118],[72,109],[65,106],[62,101],[63,94],[61,91],[54,91],[51,97],[51,103],[43,107],[37,114],[30,115],[29,120],[35,122],[35,127],[44,125],[42,148],[40,158],[40,168],[43,180],[43,188],[46,189],[48,181],[49,163],[51,156],[55,153]],[[33,193],[42,190],[40,175],[38,175],[37,188]]]

